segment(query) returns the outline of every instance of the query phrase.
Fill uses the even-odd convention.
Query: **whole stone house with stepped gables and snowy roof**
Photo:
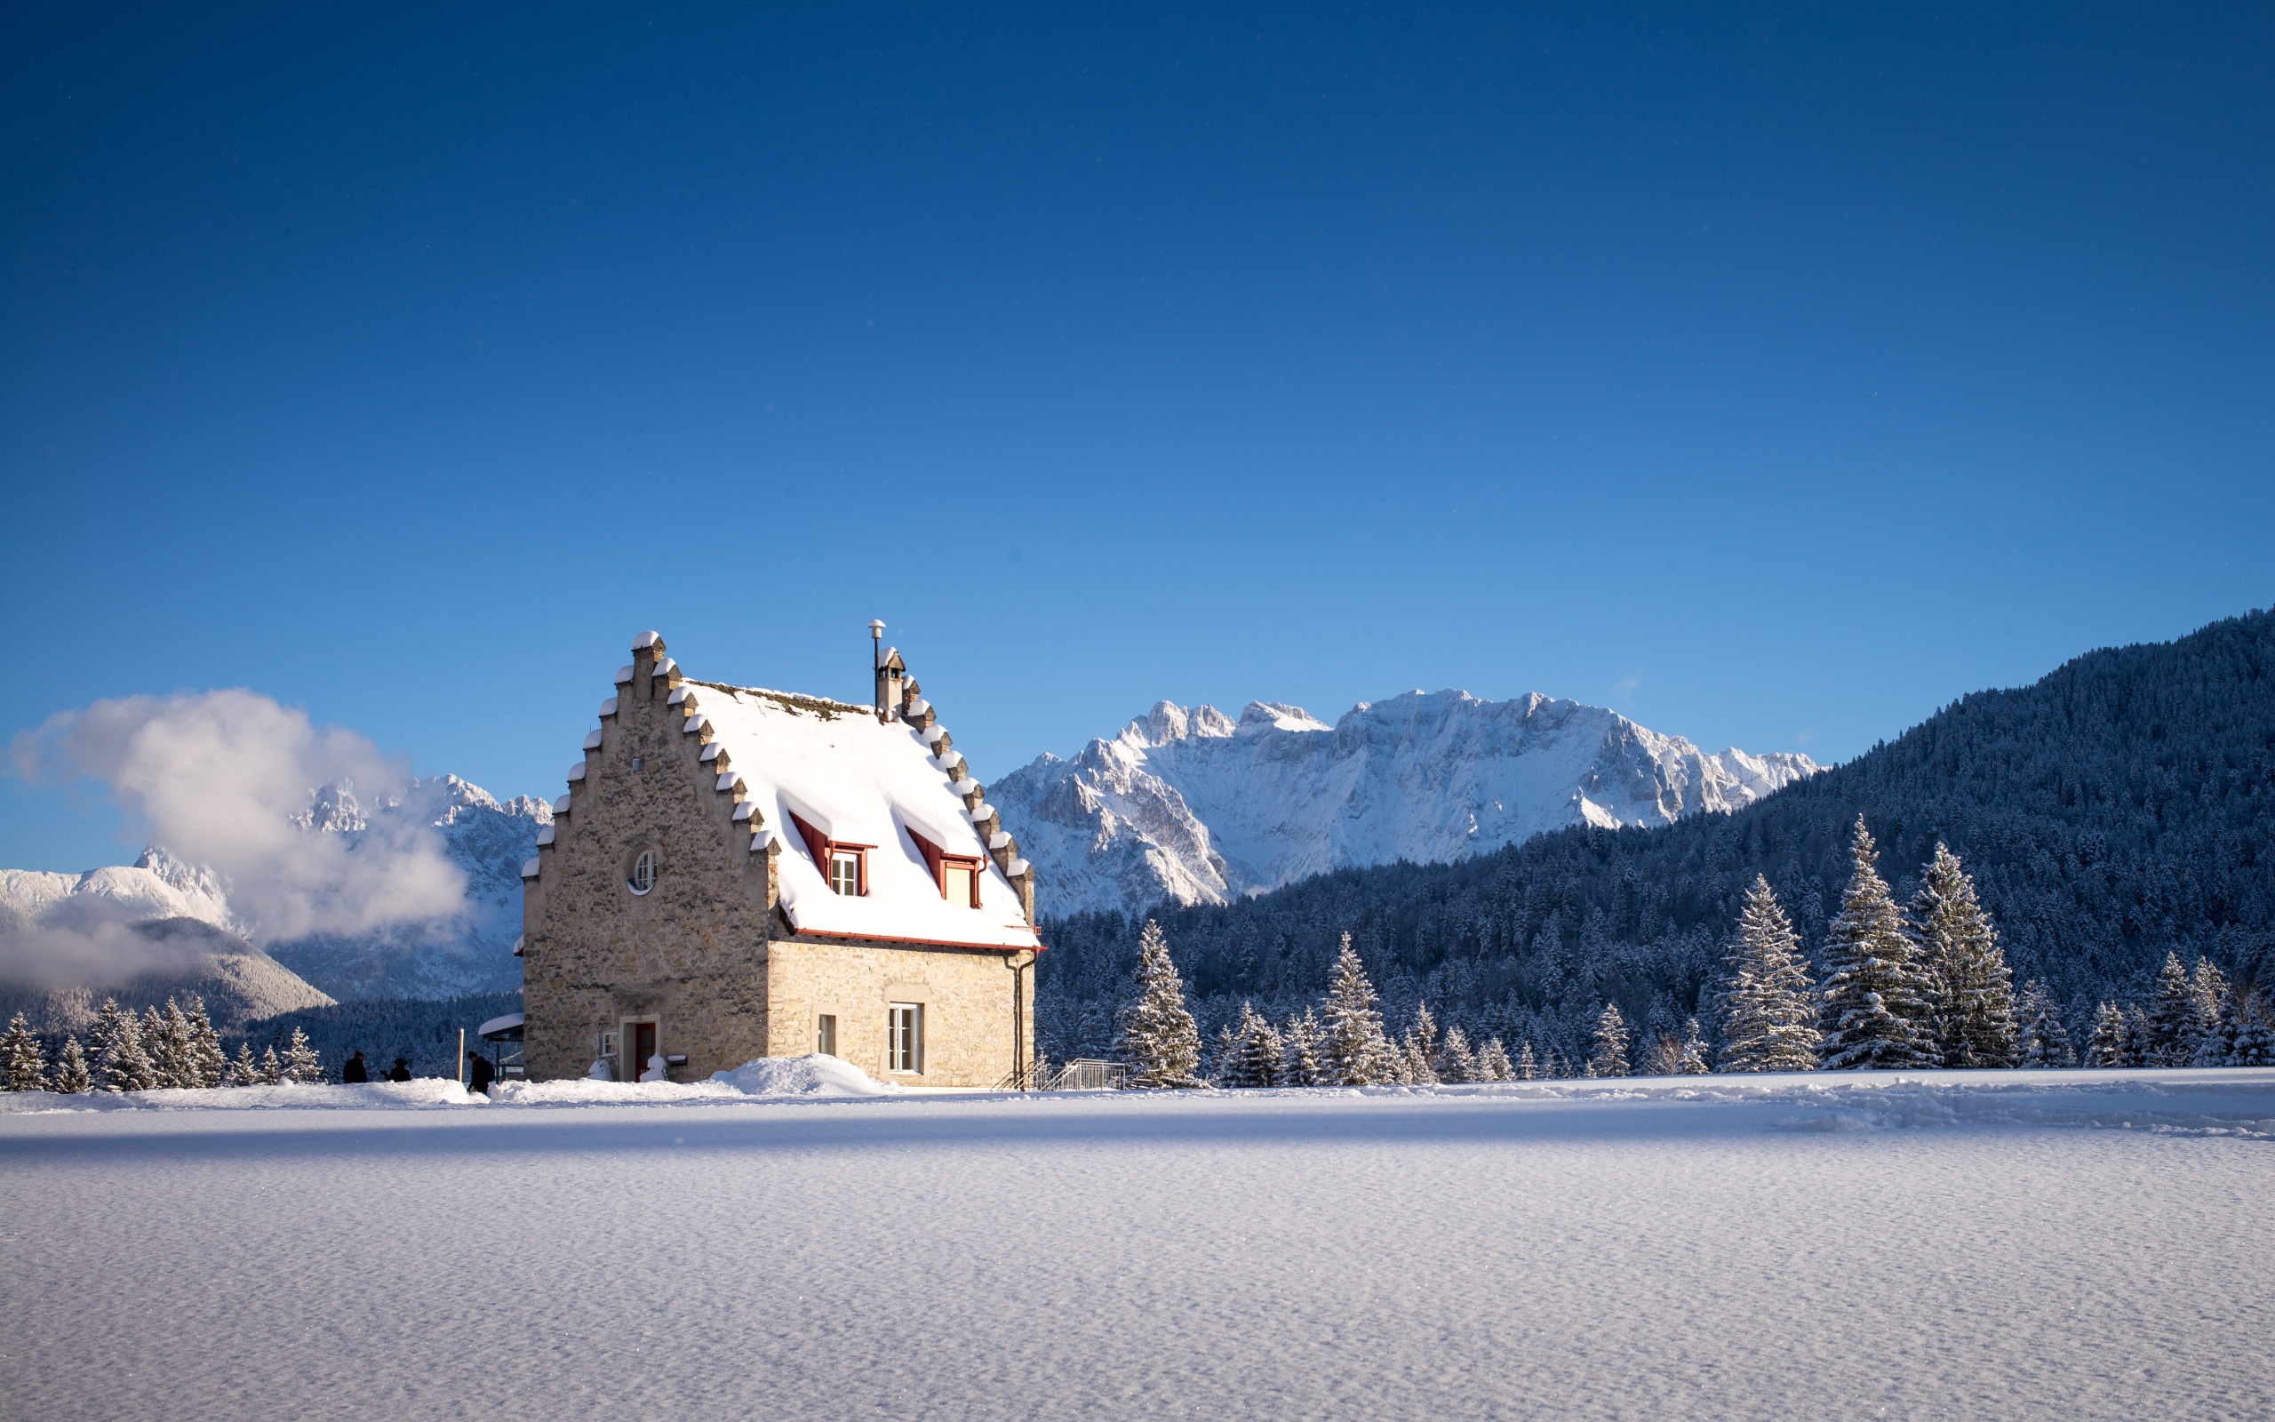
[[[910,1085],[1026,1069],[1035,871],[880,630],[871,705],[632,644],[521,869],[532,1081],[808,1051]]]

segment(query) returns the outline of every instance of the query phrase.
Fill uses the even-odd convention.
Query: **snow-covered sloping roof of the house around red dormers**
[[[783,842],[776,860],[783,910],[799,933],[985,949],[1033,949],[1019,890],[987,853],[962,794],[905,721],[880,724],[867,705],[814,696],[685,683],[689,726],[710,721],[744,783],[746,803]],[[951,762],[962,760],[953,755]],[[965,778],[960,785],[971,787]],[[835,894],[792,815],[839,844],[869,849],[869,892]],[[917,849],[981,860],[981,908],[949,903]]]

